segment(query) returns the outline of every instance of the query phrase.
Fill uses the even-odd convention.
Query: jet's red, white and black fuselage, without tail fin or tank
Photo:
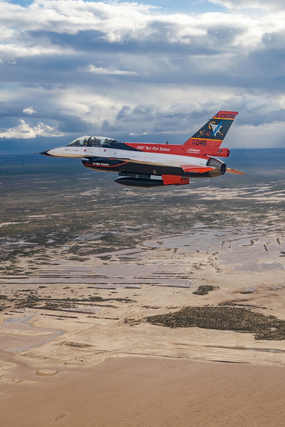
[[[208,154],[205,154],[207,149]],[[177,144],[129,143],[107,137],[79,137],[66,146],[52,148],[41,154],[55,157],[80,158],[85,167],[120,173],[125,176],[180,175],[183,178],[212,178],[223,175],[223,161],[209,155],[228,157],[228,149],[203,146],[194,140],[192,146]],[[187,168],[187,165],[192,165]],[[184,167],[185,166],[185,167]],[[192,170],[189,168],[192,167]],[[196,168],[195,168],[196,167]],[[193,169],[194,168],[194,169]],[[205,172],[203,170],[205,169]],[[141,176],[144,178],[144,176]]]

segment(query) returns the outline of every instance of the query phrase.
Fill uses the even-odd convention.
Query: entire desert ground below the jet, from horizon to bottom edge
[[[115,192],[76,164],[20,168],[21,179],[13,167],[0,224],[3,426],[284,423],[284,181]],[[227,319],[150,321],[187,307],[258,314],[273,339]]]

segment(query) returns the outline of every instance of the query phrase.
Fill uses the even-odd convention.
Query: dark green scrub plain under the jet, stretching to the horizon
[[[268,156],[265,160],[271,170]],[[264,210],[252,197],[260,185],[259,175],[228,174],[215,180],[192,180],[181,188],[141,190],[121,187],[113,183],[117,174],[86,170],[73,159],[3,155],[0,167],[0,197],[5,205],[0,218],[3,263],[32,256],[44,262],[59,249],[62,256],[82,261],[90,254],[130,249],[197,223],[216,228],[228,224],[229,218],[232,226],[270,225],[275,220],[270,212],[276,202],[268,196]],[[283,190],[282,182],[273,178],[268,173],[262,179],[271,191]],[[280,201],[279,212],[283,205]],[[15,269],[12,266],[11,272]]]

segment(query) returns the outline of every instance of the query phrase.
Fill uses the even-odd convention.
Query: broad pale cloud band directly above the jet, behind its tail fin
[[[262,94],[238,95],[235,89],[229,88],[222,94],[220,88],[150,85],[148,82],[139,86],[136,82],[127,82],[125,90],[122,85],[118,86],[116,82],[112,85],[111,82],[108,89],[109,94],[105,93],[104,87],[97,86],[65,87],[60,91],[57,88],[25,88],[23,92],[15,92],[18,102],[25,99],[27,94],[33,94],[34,98],[30,100],[34,105],[37,99],[41,99],[46,108],[44,113],[41,110],[41,123],[48,120],[49,126],[43,128],[44,125],[24,122],[24,129],[22,126],[9,126],[8,130],[0,133],[0,137],[74,135],[70,136],[70,140],[73,140],[83,134],[102,134],[119,140],[147,137],[153,142],[166,137],[170,142],[182,143],[217,111],[234,110],[239,111],[239,115],[227,136],[229,142],[225,141],[226,146],[233,148],[241,143],[244,146],[259,146],[261,139],[256,137],[255,130],[259,129],[258,135],[261,135],[262,126],[263,144],[266,140],[267,143],[270,141],[270,146],[284,144],[282,133],[272,132],[272,129],[283,129],[285,98],[276,99]],[[103,94],[100,94],[100,90]],[[56,111],[50,111],[52,106],[56,106]],[[9,114],[15,113],[10,110]],[[5,122],[6,117],[3,120]]]

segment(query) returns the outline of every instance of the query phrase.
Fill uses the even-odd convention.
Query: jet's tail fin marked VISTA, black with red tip
[[[220,147],[238,111],[219,111],[208,120],[184,145]]]

